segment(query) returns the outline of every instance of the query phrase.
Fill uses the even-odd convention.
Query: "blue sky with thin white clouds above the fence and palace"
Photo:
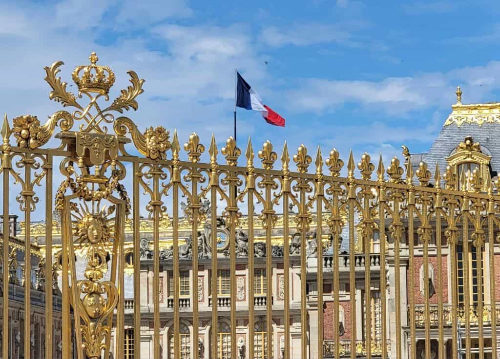
[[[500,100],[497,1],[1,1],[0,111],[45,116],[43,66],[74,66],[95,50],[116,74],[146,80],[140,126],[196,131],[208,145],[232,134],[234,68],[286,118],[267,125],[238,110],[238,145],[269,139],[276,152],[304,143],[388,161],[406,144],[426,151],[454,90],[464,103]],[[267,61],[266,65],[264,61]],[[70,88],[70,90],[72,90]],[[113,92],[114,91],[114,92]],[[244,141],[243,141],[244,140]],[[206,146],[208,147],[208,146]]]

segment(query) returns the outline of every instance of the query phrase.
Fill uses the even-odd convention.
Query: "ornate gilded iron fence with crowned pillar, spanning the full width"
[[[10,338],[9,334],[12,334],[9,333],[7,320],[12,315],[9,312],[11,286],[8,283],[19,284],[12,283],[15,282],[12,271],[17,269],[12,248],[15,249],[14,244],[21,239],[24,258],[31,258],[31,249],[35,246],[32,231],[38,230],[31,221],[31,214],[43,201],[44,259],[40,261],[41,264],[38,263],[37,272],[42,281],[34,289],[27,284],[30,280],[24,280],[22,309],[30,313],[32,291],[44,292],[45,358],[57,357],[59,354],[62,358],[108,358],[112,334],[114,358],[128,357],[130,352],[125,342],[133,343],[133,358],[145,357],[141,354],[138,330],[141,328],[141,317],[145,317],[140,305],[142,296],[146,295],[141,293],[139,258],[142,250],[149,251],[151,255],[152,313],[147,318],[151,319],[153,358],[168,355],[167,348],[162,348],[160,341],[160,330],[165,322],[163,306],[173,309],[168,312],[173,323],[173,358],[181,358],[185,354],[181,348],[181,338],[184,338],[181,337],[181,305],[183,309],[188,308],[188,315],[185,310],[182,312],[182,320],[187,318],[193,324],[190,333],[193,340],[188,355],[194,358],[198,354],[192,343],[196,343],[199,338],[199,303],[193,297],[181,300],[179,292],[179,258],[182,256],[179,251],[184,250],[190,250],[191,255],[187,258],[195,273],[190,277],[191,293],[194,288],[198,288],[196,271],[202,260],[200,258],[204,258],[203,263],[210,268],[210,302],[218,305],[209,306],[212,323],[211,343],[207,343],[209,358],[226,355],[220,351],[221,337],[217,325],[221,313],[227,313],[221,310],[222,302],[229,312],[229,332],[224,337],[229,339],[226,350],[233,357],[236,353],[237,356],[242,355],[243,342],[236,332],[236,328],[241,327],[238,321],[242,316],[246,317],[248,323],[243,324],[248,330],[245,337],[247,342],[243,343],[244,355],[248,358],[259,357],[262,353],[269,357],[269,353],[272,353],[274,357],[282,358],[323,358],[327,355],[340,358],[345,353],[350,358],[360,353],[366,358],[388,358],[389,352],[396,358],[416,358],[418,336],[424,339],[423,354],[426,358],[430,357],[431,339],[441,343],[438,357],[444,358],[446,325],[451,327],[449,340],[454,357],[458,353],[457,333],[460,327],[465,328],[465,333],[470,333],[470,327],[477,326],[478,338],[483,337],[484,315],[476,315],[471,319],[470,316],[462,315],[462,308],[474,308],[476,313],[484,313],[496,298],[494,242],[498,240],[500,196],[496,194],[496,184],[488,174],[478,171],[466,174],[463,170],[458,174],[453,167],[441,172],[436,167],[432,175],[423,162],[414,171],[409,159],[404,171],[397,158],[393,158],[390,165],[385,167],[381,157],[375,170],[368,154],[362,155],[356,164],[350,153],[344,177],[341,176],[344,162],[335,149],[323,159],[318,148],[313,161],[303,145],[290,157],[285,143],[278,161],[278,155],[268,141],[256,153],[261,163],[261,167],[257,167],[250,139],[242,155],[232,137],[219,151],[213,136],[207,150],[209,161],[203,163],[201,157],[205,153],[205,146],[195,133],[181,147],[176,132],[171,138],[170,133],[161,126],[140,132],[129,118],[114,117],[113,113],[121,115],[130,108],[137,109],[135,98],[143,92],[144,80],[139,79],[133,71],[128,72],[131,85],[122,90],[111,105],[102,109],[97,100],[108,100],[114,74],[109,68],[96,65],[95,53],[90,56],[90,61],[90,65],[79,66],[72,74],[78,87],[78,96],[68,92],[66,83],[57,77],[62,62],[55,62],[45,68],[45,80],[52,89],[50,99],[60,102],[64,107],[75,108],[72,113],[57,111],[44,125],[40,125],[38,119],[31,115],[16,117],[11,123],[5,116],[2,124],[3,215],[7,218],[13,211],[11,188],[20,186],[16,199],[20,203],[19,210],[24,221],[22,238],[16,238],[15,233],[14,236],[7,235],[10,233],[9,222],[3,220],[4,338]],[[80,98],[87,97],[88,104],[80,105]],[[76,122],[80,125],[76,126]],[[112,129],[108,129],[108,125]],[[56,127],[60,131],[53,136]],[[16,146],[11,146],[12,137]],[[43,148],[47,143],[56,141],[60,142],[57,147]],[[130,142],[132,145],[129,145]],[[472,151],[471,147],[474,146],[471,143],[462,145],[463,151]],[[223,156],[222,161],[219,152]],[[183,156],[186,156],[187,161],[181,160]],[[238,166],[238,161],[243,162],[244,166]],[[291,161],[296,166],[296,172],[290,170]],[[313,168],[312,172],[308,172],[309,167]],[[356,178],[356,169],[360,178]],[[60,176],[63,179],[55,181],[54,178]],[[129,183],[130,188],[125,188],[124,183]],[[37,193],[35,189],[42,184],[44,189],[41,188]],[[40,203],[39,196],[43,197]],[[144,197],[147,199],[142,202]],[[182,198],[186,199],[187,204],[181,206]],[[144,248],[140,243],[143,229],[141,213],[147,213],[151,223],[152,249]],[[184,244],[179,238],[179,223],[183,221],[187,221],[190,228],[188,248],[182,247]],[[225,239],[216,235],[221,221],[226,229]],[[241,263],[240,257],[246,257],[243,262],[251,286],[255,279],[256,260],[252,254],[260,251],[260,257],[264,258],[266,283],[272,284],[275,281],[273,261],[276,255],[271,249],[276,246],[273,238],[278,222],[281,232],[277,247],[281,245],[282,254],[279,256],[282,257],[284,270],[282,303],[275,303],[277,287],[268,285],[263,295],[247,290],[248,303],[251,305],[240,311],[236,297],[236,264]],[[243,244],[238,229],[242,223],[247,236]],[[199,235],[202,227],[208,233],[207,236]],[[256,227],[260,231],[258,240]],[[165,250],[160,248],[162,228],[171,230],[172,246],[167,262],[160,260],[160,252]],[[125,240],[127,230],[131,232],[128,242]],[[311,230],[314,231],[312,239],[308,234]],[[57,231],[60,238],[54,242],[53,233]],[[379,248],[374,253],[372,244],[375,237],[379,238]],[[347,243],[344,248],[346,253],[341,253],[339,249],[343,241]],[[216,254],[220,246],[224,247],[227,255],[230,273],[227,296],[220,296],[215,290],[219,285],[217,268],[223,261]],[[455,258],[458,247],[461,261],[457,269]],[[203,249],[203,255],[199,248]],[[276,250],[279,252],[279,248]],[[445,282],[442,280],[442,260],[436,261],[438,280],[432,288],[426,285],[429,279],[432,281],[429,278],[429,253],[441,259],[443,250],[448,251],[447,256],[451,258],[447,269],[451,275],[447,283],[449,296],[446,299],[441,288]],[[78,271],[74,257],[78,251],[83,253],[86,261],[81,271]],[[472,266],[472,259],[469,258],[471,251],[474,253],[474,270],[485,273],[484,278],[476,275],[471,280],[467,274],[465,279],[461,279],[462,284],[457,283],[454,274],[459,270],[468,273]],[[486,253],[487,261],[483,260]],[[130,254],[132,257],[127,257]],[[129,258],[133,258],[132,265]],[[413,291],[417,281],[414,271],[416,258],[421,258],[421,280],[425,284],[421,307],[416,306]],[[164,301],[164,304],[160,303],[160,293],[163,291],[163,287],[160,288],[160,261],[162,266],[168,264],[172,268],[172,298]],[[297,273],[293,276],[290,270],[292,261],[298,263]],[[482,267],[483,263],[488,263],[487,268]],[[133,298],[125,299],[124,273],[130,265],[135,266]],[[30,267],[31,261],[24,260],[25,278],[28,279]],[[406,267],[411,270],[406,272]],[[296,278],[300,279],[296,284],[299,286],[298,297],[293,294],[292,288]],[[486,288],[483,285],[485,281],[489,283],[487,293],[483,290]],[[308,282],[310,288],[316,283],[313,293],[309,293]],[[325,282],[331,283],[328,293],[324,293],[324,285],[317,285]],[[358,287],[363,288],[362,297],[357,297]],[[59,289],[62,297],[60,353],[54,345],[52,310],[54,296]],[[432,306],[429,299],[431,290],[435,291],[437,297],[432,299],[436,300]],[[374,297],[374,291],[379,293],[379,297]],[[328,317],[330,319],[325,322],[326,312],[322,308],[327,296],[337,304],[341,302],[340,297],[344,299],[342,308],[351,309],[348,320],[341,320],[340,306],[333,305],[332,317]],[[488,298],[488,303],[485,303],[485,298]],[[363,302],[359,303],[360,300]],[[294,305],[297,309],[293,309]],[[320,310],[316,310],[312,317],[310,313],[314,308]],[[363,308],[362,314],[355,308]],[[262,315],[262,309],[265,315]],[[255,343],[255,338],[260,338],[255,337],[256,329],[252,325],[257,320],[257,310],[259,320],[265,323],[265,330],[258,331],[265,337],[259,342],[263,343],[265,350]],[[300,318],[299,325],[293,325],[293,333],[288,320],[292,310],[296,310]],[[434,312],[437,314],[434,315]],[[273,317],[283,318],[281,324],[273,323]],[[24,338],[31,338],[30,318],[25,315],[23,319]],[[497,311],[489,310],[486,319],[491,342],[496,343]],[[124,332],[126,321],[129,321],[131,328],[136,329],[133,331],[133,340],[129,338],[128,332]],[[340,328],[347,325],[350,338],[341,339],[344,334]],[[431,336],[431,327],[436,325],[437,333],[432,332]],[[421,327],[423,334],[420,335]],[[333,339],[325,339],[325,328],[331,328],[328,335]],[[281,331],[282,346],[281,341],[275,340],[274,331]],[[276,343],[276,348],[273,343]],[[2,358],[12,354],[14,348],[9,346],[12,346],[12,342],[2,341]],[[25,358],[34,356],[29,340],[24,340],[23,346]],[[256,348],[262,349],[260,354],[256,353]],[[358,348],[361,349],[358,351]],[[465,335],[465,351],[470,357],[469,335]],[[496,358],[495,345],[491,351],[493,358]],[[483,341],[478,342],[478,353],[480,357],[484,355]]]

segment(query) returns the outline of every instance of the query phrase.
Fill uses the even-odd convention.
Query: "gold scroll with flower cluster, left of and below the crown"
[[[45,125],[40,126],[36,116],[23,115],[12,120],[12,134],[17,140],[17,146],[27,150],[34,150],[44,145],[52,136],[57,122],[63,131],[73,126],[73,118],[67,111],[55,112]]]

